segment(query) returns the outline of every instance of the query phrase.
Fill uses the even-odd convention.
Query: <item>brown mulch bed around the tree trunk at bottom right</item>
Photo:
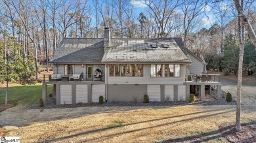
[[[228,142],[256,142],[256,122],[242,123],[242,131],[236,131],[235,123],[224,123],[219,127]]]

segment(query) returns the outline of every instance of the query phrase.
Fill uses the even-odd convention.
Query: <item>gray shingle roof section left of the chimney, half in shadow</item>
[[[104,55],[104,39],[63,39],[52,63],[100,63]]]

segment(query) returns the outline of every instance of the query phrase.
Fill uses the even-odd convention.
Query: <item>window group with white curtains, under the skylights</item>
[[[151,65],[152,77],[180,77],[180,65]]]

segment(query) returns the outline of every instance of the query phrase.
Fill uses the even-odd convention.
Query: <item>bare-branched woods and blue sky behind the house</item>
[[[104,27],[119,38],[182,37],[203,59],[224,52],[226,35],[238,40],[238,13],[230,1],[2,0],[0,9],[2,59],[22,57],[34,65],[36,78],[38,62],[48,63],[63,38],[103,37]],[[244,12],[255,27],[253,0]]]

